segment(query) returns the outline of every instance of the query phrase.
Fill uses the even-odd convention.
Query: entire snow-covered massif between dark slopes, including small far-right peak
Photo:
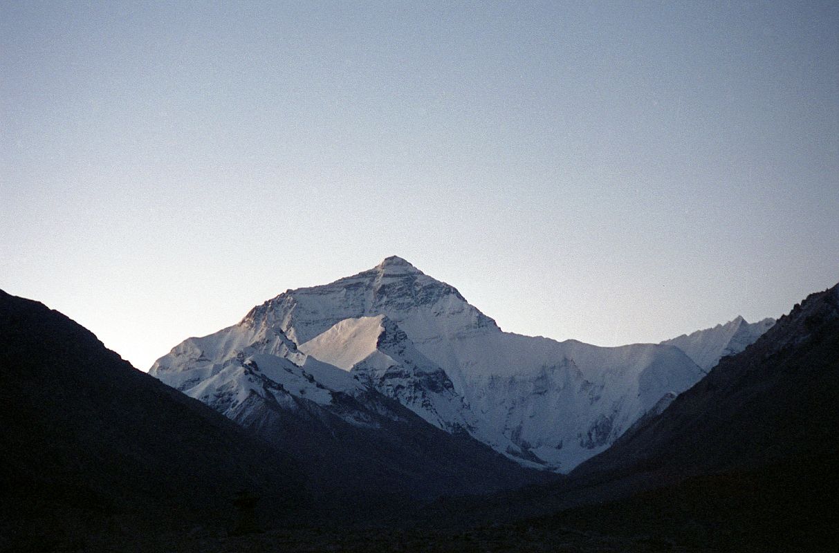
[[[283,292],[185,340],[149,373],[232,418],[253,395],[294,410],[301,399],[329,406],[335,394],[363,401],[376,390],[525,466],[568,472],[769,328],[746,324],[617,348],[505,333],[454,287],[393,256]]]

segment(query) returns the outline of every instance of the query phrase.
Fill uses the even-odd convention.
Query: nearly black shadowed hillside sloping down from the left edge
[[[300,468],[134,369],[61,313],[0,291],[0,550],[237,525],[242,491],[274,519],[307,502]]]

